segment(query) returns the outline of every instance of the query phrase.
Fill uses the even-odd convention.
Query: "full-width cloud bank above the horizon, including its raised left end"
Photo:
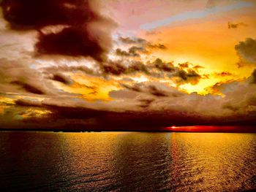
[[[7,127],[100,128],[102,125],[108,125],[108,128],[120,126],[129,128],[129,126],[170,126],[170,123],[176,125],[255,123],[256,70],[244,82],[229,82],[214,86],[214,89],[225,94],[224,98],[211,94],[201,96],[197,93],[184,93],[162,82],[140,82],[122,85],[123,88],[120,90],[111,91],[109,94],[113,101],[91,102],[81,99],[79,95],[56,89],[53,86],[54,81],[67,85],[74,83],[59,74],[52,79],[46,79],[37,76],[31,70],[26,72],[27,79],[17,83],[20,82],[19,74],[23,72],[23,68],[20,69],[20,72],[16,67],[5,69],[5,75],[6,72],[17,75],[14,78],[11,74],[10,77],[5,78],[10,80],[9,82],[1,82],[1,89],[7,88],[8,92],[23,95],[20,98],[7,91],[2,94],[5,98],[14,101],[14,103],[5,103],[7,109],[1,115],[1,124]],[[39,81],[38,78],[42,80]],[[16,83],[13,83],[14,81]],[[4,105],[4,102],[1,104]],[[32,113],[31,109],[36,112]],[[38,115],[39,111],[43,115]]]

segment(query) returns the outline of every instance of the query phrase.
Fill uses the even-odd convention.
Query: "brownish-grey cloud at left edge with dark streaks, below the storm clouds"
[[[53,85],[54,81],[71,85],[72,80],[58,71],[43,72],[41,69],[31,68],[29,64],[34,62],[31,59],[22,59],[12,61],[6,58],[0,58],[0,93],[20,94],[20,96],[74,96],[73,93],[67,93],[59,90]]]

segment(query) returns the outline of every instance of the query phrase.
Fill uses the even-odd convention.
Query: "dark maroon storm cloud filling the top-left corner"
[[[89,7],[88,2],[65,0],[3,0],[1,6],[4,18],[14,29],[34,29],[53,25],[72,25],[76,19],[88,18],[89,12],[84,12],[80,7]],[[65,6],[69,4],[69,6]],[[73,8],[69,8],[69,7]]]

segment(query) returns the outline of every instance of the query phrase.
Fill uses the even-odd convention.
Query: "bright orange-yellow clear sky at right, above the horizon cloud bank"
[[[238,55],[235,45],[246,38],[256,38],[256,12],[233,11],[214,15],[209,18],[189,20],[176,26],[157,28],[154,35],[141,32],[141,36],[153,41],[162,42],[168,49],[155,55],[164,61],[174,61],[175,64],[189,62],[203,66],[200,74],[210,74],[209,79],[200,80],[197,85],[181,85],[189,93],[207,93],[205,88],[220,81],[243,80],[249,77],[254,66],[244,66],[238,69]],[[228,28],[227,22],[245,23],[246,26]],[[217,77],[216,72],[230,72],[233,76]]]

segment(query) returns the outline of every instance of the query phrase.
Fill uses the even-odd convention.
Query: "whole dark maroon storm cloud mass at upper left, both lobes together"
[[[91,56],[105,60],[111,47],[110,31],[116,26],[103,17],[98,1],[84,0],[4,0],[4,18],[15,30],[39,31],[37,54]],[[65,26],[45,34],[43,28]]]

